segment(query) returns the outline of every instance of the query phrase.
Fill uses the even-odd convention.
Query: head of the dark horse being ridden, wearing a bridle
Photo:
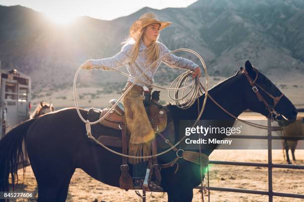
[[[251,65],[240,67],[236,75],[246,77],[244,84],[245,102],[250,110],[276,120],[280,126],[295,122],[298,111],[294,104],[264,74]],[[251,90],[249,90],[251,89]]]

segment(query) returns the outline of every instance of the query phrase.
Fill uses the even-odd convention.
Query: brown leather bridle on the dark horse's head
[[[282,93],[280,96],[278,97],[274,97],[273,95],[271,95],[269,92],[267,92],[265,89],[263,89],[259,84],[256,83],[256,80],[258,78],[258,70],[254,67],[252,67],[253,70],[255,71],[255,79],[252,81],[252,79],[250,78],[248,72],[246,71],[245,68],[243,67],[240,67],[241,69],[241,73],[245,74],[246,75],[246,78],[251,86],[251,89],[253,90],[253,92],[255,93],[255,95],[257,96],[258,100],[259,101],[263,101],[266,109],[269,111],[269,114],[267,116],[267,118],[271,119],[271,121],[281,121],[281,120],[278,120],[278,117],[279,116],[282,116],[285,120],[288,120],[285,116],[283,116],[282,114],[280,114],[279,112],[277,112],[275,110],[275,107],[276,105],[279,103],[279,101],[281,100],[281,98],[284,96],[284,94]],[[270,98],[272,98],[273,100],[273,106],[268,104],[268,102],[263,98],[263,96],[260,94],[258,88],[261,89],[264,93],[266,93]]]

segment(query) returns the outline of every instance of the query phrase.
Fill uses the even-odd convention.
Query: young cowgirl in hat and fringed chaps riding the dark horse
[[[158,41],[159,31],[170,24],[171,22],[159,21],[152,12],[145,13],[131,25],[129,38],[122,43],[124,46],[119,53],[109,58],[89,59],[81,65],[82,69],[100,68],[102,70],[111,70],[108,67],[118,69],[126,65],[131,76],[148,83],[136,82],[134,87],[123,98],[127,128],[131,133],[129,155],[151,155],[151,143],[155,133],[143,104],[143,92],[152,89],[150,85],[153,83],[153,76],[160,63],[163,62],[173,68],[190,69],[193,71],[193,78],[196,75],[201,76],[201,70],[197,64],[186,58],[177,57],[172,53],[163,57],[161,61],[156,62],[145,74],[140,76],[152,62],[170,52],[164,44]],[[129,77],[128,83],[122,92],[134,82],[135,79]],[[147,159],[129,158],[129,162],[135,164],[133,166],[135,171],[133,172],[134,178],[145,177]],[[159,186],[153,186],[153,188],[154,190],[152,191],[162,191]]]

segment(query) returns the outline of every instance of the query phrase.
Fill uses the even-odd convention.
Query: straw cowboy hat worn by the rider
[[[163,22],[163,21],[159,21],[157,16],[152,13],[152,12],[148,12],[143,14],[140,19],[136,20],[130,27],[130,31],[129,31],[129,35],[130,37],[132,37],[133,39],[137,38],[142,29],[148,25],[151,25],[153,23],[159,23],[160,24],[160,28],[159,30],[164,29],[165,27],[169,26],[170,24],[172,24],[172,22]]]

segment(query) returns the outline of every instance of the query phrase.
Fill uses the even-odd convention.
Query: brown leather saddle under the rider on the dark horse
[[[155,97],[156,99],[153,99]],[[152,99],[150,100],[150,103],[148,103],[147,100],[146,101],[143,100],[144,104],[146,105],[145,108],[150,123],[154,131],[158,130],[158,132],[161,132],[161,134],[166,139],[168,139],[171,143],[174,143],[175,141],[174,123],[171,117],[171,113],[166,106],[162,106],[158,103],[157,98],[159,99],[159,91],[154,91],[152,93]],[[109,102],[113,106],[117,102],[117,100],[112,99]],[[88,114],[87,118],[89,119],[90,122],[96,121],[99,118],[103,117],[108,111],[110,111],[109,107],[101,110],[90,108],[87,112]],[[122,131],[123,128],[125,127],[123,104],[119,102],[118,105],[112,111],[110,111],[109,114],[102,121],[99,122],[99,124],[108,128]],[[91,126],[92,135],[95,136],[99,142],[101,142],[106,146],[121,148],[122,147],[121,135],[117,135],[117,133],[104,134],[104,132],[102,132],[103,129],[102,127],[100,127],[99,124],[95,124]],[[156,136],[156,143],[157,143],[157,149],[165,149],[170,147],[158,135]]]

